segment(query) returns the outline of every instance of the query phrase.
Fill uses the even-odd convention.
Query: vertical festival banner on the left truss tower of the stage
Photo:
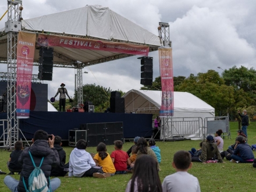
[[[31,78],[35,51],[35,33],[20,31],[17,40],[17,118],[29,118]]]

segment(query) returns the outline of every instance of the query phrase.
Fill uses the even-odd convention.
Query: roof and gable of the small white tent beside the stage
[[[161,107],[162,91],[130,90],[125,98],[126,112],[135,113],[159,113]],[[215,116],[215,109],[187,92],[174,91],[174,116],[173,118],[201,117],[209,118]]]

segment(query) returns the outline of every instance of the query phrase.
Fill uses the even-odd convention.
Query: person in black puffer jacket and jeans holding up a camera
[[[48,134],[44,130],[35,131],[34,138],[32,138],[33,144],[31,147],[26,147],[19,157],[19,162],[23,165],[22,172],[20,173],[20,180],[18,181],[9,175],[3,180],[11,191],[26,192],[23,178],[26,187],[29,187],[29,176],[34,170],[29,151],[33,156],[36,166],[40,165],[41,159],[44,157],[41,169],[47,178],[48,188],[50,188],[49,184],[51,183],[51,191],[58,189],[61,185],[61,180],[59,178],[56,177],[51,179],[51,182],[49,181],[52,166],[59,165],[59,155],[58,151],[54,148],[54,138],[54,135],[52,135],[52,139],[48,138]]]

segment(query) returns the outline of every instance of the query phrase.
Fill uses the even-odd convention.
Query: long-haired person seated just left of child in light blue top
[[[148,143],[147,140],[145,140],[144,137],[140,137],[138,139],[138,143],[137,143],[137,158],[141,157],[141,155],[150,155],[152,158],[155,159],[155,161],[157,161],[157,155],[155,155],[155,152],[153,150],[151,150],[150,147],[148,147]],[[136,163],[135,163],[136,164]],[[157,169],[159,170],[159,163],[157,161]]]

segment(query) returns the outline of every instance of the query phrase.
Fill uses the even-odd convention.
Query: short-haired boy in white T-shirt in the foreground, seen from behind
[[[162,183],[163,191],[166,192],[200,192],[200,184],[197,177],[190,175],[187,171],[191,168],[191,155],[187,151],[177,151],[174,154],[173,168],[176,173],[165,177]]]

